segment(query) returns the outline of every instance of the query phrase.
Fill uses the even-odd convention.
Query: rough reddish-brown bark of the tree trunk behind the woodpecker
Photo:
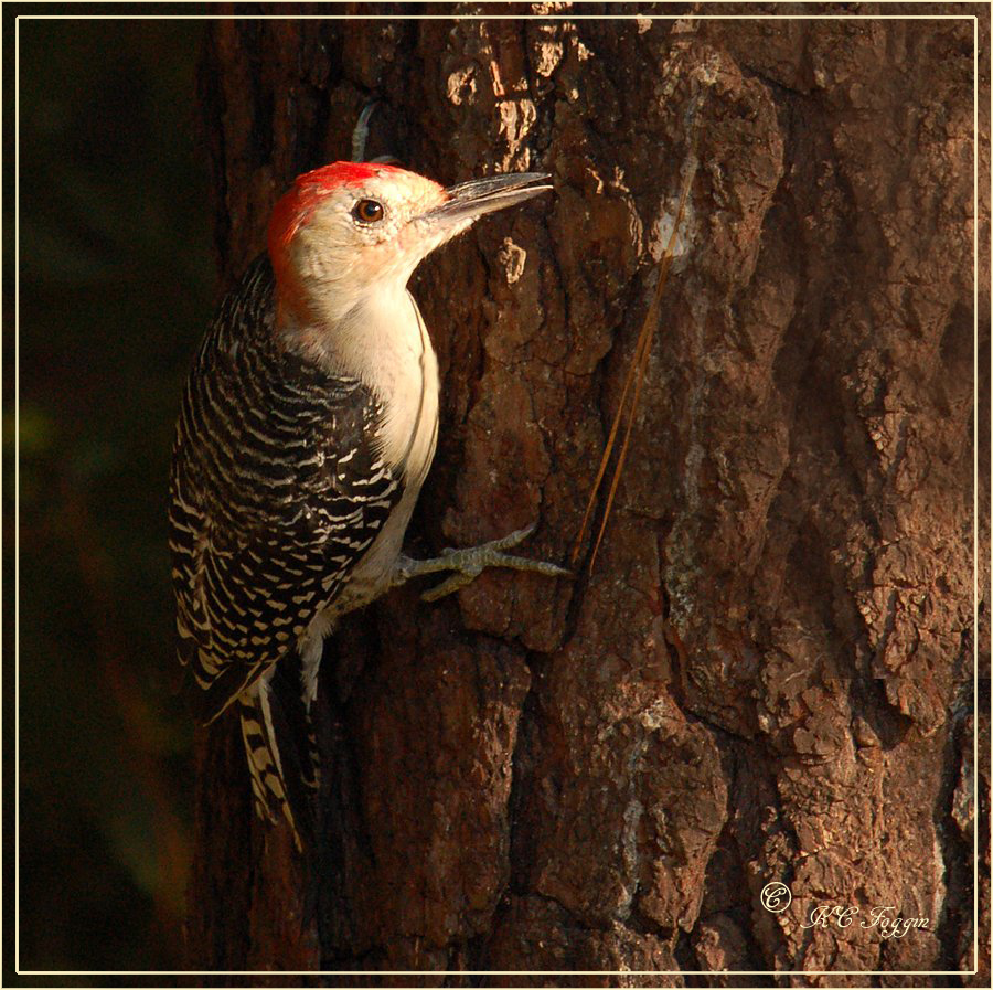
[[[545,8],[569,12],[519,12]],[[985,9],[938,12],[982,14],[986,66]],[[978,833],[964,981],[989,984],[990,92],[976,146],[972,87],[971,20],[213,25],[225,285],[293,175],[349,156],[372,96],[371,157],[446,183],[554,177],[414,279],[444,374],[421,554],[536,520],[530,552],[566,557],[694,94],[700,169],[592,576],[492,573],[433,606],[407,588],[345,622],[321,682],[320,862],[250,820],[234,727],[204,733],[192,966],[969,970]],[[979,477],[985,643],[985,453]],[[804,927],[818,905],[859,915]],[[880,906],[928,924],[883,938],[861,924]]]

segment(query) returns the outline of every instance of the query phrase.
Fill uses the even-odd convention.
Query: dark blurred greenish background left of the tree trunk
[[[20,962],[175,968],[192,733],[166,504],[214,294],[205,26],[19,26]]]

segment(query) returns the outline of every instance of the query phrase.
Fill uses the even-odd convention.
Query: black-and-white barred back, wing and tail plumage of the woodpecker
[[[280,347],[274,289],[261,257],[196,356],[175,434],[170,549],[200,715],[242,699],[259,810],[292,821],[266,673],[332,606],[403,483],[371,439],[383,409],[370,390]]]

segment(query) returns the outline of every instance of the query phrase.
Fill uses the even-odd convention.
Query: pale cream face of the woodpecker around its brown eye
[[[437,182],[399,169],[339,187],[321,196],[293,236],[292,266],[305,286],[334,284],[350,296],[373,286],[403,288],[424,257],[471,223],[424,219],[445,202]]]

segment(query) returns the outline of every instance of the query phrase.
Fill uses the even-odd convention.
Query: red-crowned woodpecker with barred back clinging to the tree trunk
[[[504,553],[530,529],[429,561],[401,552],[438,436],[438,364],[407,281],[547,178],[442,189],[366,162],[300,175],[186,381],[170,485],[179,659],[204,722],[237,710],[256,810],[285,817],[298,848],[290,792],[295,776],[314,786],[312,736],[305,756],[280,745],[274,675],[292,666],[309,720],[345,613],[421,574],[453,572],[435,598],[488,566],[567,573]]]

